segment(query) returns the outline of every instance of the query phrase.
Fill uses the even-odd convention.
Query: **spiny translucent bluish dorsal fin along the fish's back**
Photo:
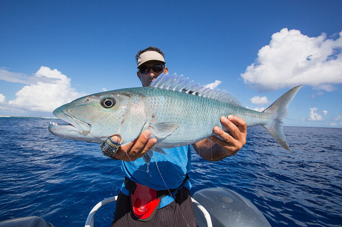
[[[240,100],[232,93],[217,89],[206,88],[195,84],[194,81],[190,81],[189,78],[185,78],[183,74],[178,76],[177,74],[161,74],[155,79],[150,87],[163,88],[173,91],[185,92],[188,94],[208,97],[217,99],[222,102],[227,102],[232,105],[242,106]]]

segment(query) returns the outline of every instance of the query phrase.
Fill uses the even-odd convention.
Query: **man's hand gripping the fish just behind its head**
[[[148,139],[150,135],[151,132],[149,130],[143,131],[137,139],[121,146],[114,157],[122,161],[135,161],[142,157],[157,142],[156,138]],[[119,140],[118,136],[113,136],[111,139],[113,141]]]

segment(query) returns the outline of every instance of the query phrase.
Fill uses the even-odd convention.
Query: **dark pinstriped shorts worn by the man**
[[[186,187],[178,190],[173,202],[161,209],[157,209],[153,218],[148,222],[134,220],[130,213],[130,206],[129,196],[120,191],[111,227],[197,226],[190,191]]]

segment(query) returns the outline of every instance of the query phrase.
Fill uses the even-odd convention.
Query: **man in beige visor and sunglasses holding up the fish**
[[[148,87],[161,73],[168,73],[164,53],[159,48],[150,46],[139,50],[136,61],[137,76],[143,87]],[[195,151],[205,160],[222,160],[236,154],[246,143],[247,130],[244,120],[236,116],[228,116],[228,119],[222,116],[220,120],[232,136],[219,127],[214,127],[213,131],[222,140],[212,136],[210,140],[204,139],[193,144]],[[157,142],[155,138],[149,139],[149,136],[150,132],[145,130],[136,140],[121,146],[112,157],[123,161],[121,169],[126,176],[116,203],[112,227],[196,226],[189,191],[191,184],[187,178],[191,166],[190,147],[164,149],[168,155],[154,152],[151,163],[147,166],[140,157]],[[119,140],[117,136],[111,139]],[[143,205],[147,204],[146,201],[151,201],[148,206],[158,201],[153,194],[155,192],[156,195],[161,195],[160,200],[158,204],[151,205],[155,209],[148,215]],[[143,210],[134,210],[141,205]]]

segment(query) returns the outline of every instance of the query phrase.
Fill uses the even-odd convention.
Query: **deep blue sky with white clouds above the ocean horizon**
[[[304,84],[288,126],[342,127],[342,1],[1,1],[0,115],[141,86],[135,53],[262,110]],[[42,67],[43,66],[43,67]]]

